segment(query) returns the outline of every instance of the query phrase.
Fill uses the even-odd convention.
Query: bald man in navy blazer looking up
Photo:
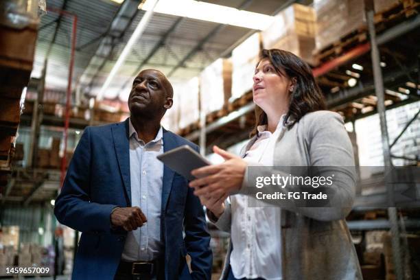
[[[161,126],[172,96],[163,73],[143,70],[128,97],[130,117],[84,130],[54,209],[82,232],[73,279],[211,278],[202,205],[187,178],[156,159],[180,145],[198,151]]]

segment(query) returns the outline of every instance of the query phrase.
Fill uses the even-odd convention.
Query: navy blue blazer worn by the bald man
[[[185,144],[198,150],[194,143],[163,130],[165,152]],[[54,208],[60,223],[82,232],[73,279],[114,278],[127,232],[111,229],[110,212],[116,206],[130,207],[130,200],[128,119],[86,128]],[[185,265],[187,253],[191,256],[191,278],[210,279],[210,235],[202,205],[187,179],[166,166],[161,237],[165,244],[165,279],[190,279]]]

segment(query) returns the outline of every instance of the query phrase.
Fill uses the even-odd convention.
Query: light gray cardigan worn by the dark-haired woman
[[[248,150],[257,137],[250,139]],[[250,164],[250,165],[258,165]],[[342,117],[330,111],[317,111],[303,116],[290,129],[283,129],[274,150],[275,166],[354,166],[353,150]],[[266,174],[281,173],[266,168]],[[336,196],[342,205],[352,205],[355,196],[355,173],[336,173]],[[247,172],[240,194],[247,194]],[[279,189],[281,191],[281,189]],[[278,202],[277,202],[278,203]],[[282,261],[284,280],[362,279],[362,273],[351,241],[345,217],[351,207],[282,207]],[[226,232],[231,231],[231,207],[216,221]],[[224,261],[221,279],[227,279],[231,242]]]

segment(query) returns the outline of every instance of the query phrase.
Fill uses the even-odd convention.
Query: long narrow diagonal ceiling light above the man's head
[[[141,34],[143,34],[143,31],[145,30],[145,27],[148,25],[150,19],[152,18],[152,14],[154,11],[154,7],[159,2],[159,0],[148,0],[150,2],[150,9],[144,14],[144,16],[141,18],[141,21],[137,25],[134,32],[132,32],[132,35],[130,39],[128,39],[126,47],[124,47],[123,51],[119,55],[119,58],[117,62],[115,62],[115,65],[113,69],[111,69],[108,78],[106,78],[104,84],[102,85],[102,88],[100,92],[96,95],[97,100],[102,100],[104,98],[104,93],[106,89],[108,89],[108,86],[110,82],[113,80],[115,75],[117,74],[117,71],[119,70],[119,67],[123,65],[124,61],[126,61],[126,58],[128,54],[130,54],[130,51],[132,49],[132,46],[137,43],[137,40],[139,40]]]

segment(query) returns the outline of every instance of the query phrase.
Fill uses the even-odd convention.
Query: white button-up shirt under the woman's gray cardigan
[[[283,117],[274,133],[266,130],[266,126],[258,126],[258,139],[246,152],[245,161],[272,166],[275,142],[284,129]],[[249,200],[256,198],[242,194],[231,196],[233,275],[238,279],[281,280],[281,209],[268,204],[248,207]],[[265,202],[258,203],[265,205]]]

